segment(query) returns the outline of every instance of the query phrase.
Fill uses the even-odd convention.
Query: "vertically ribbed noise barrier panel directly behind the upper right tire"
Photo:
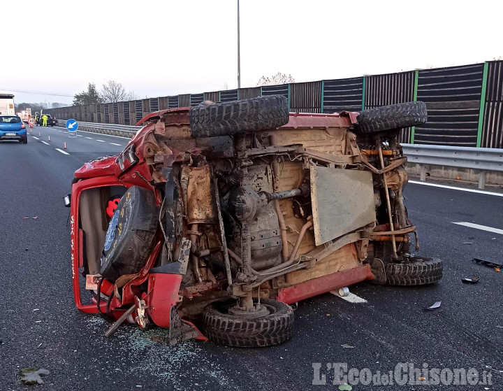
[[[414,100],[415,72],[365,76],[365,109]],[[410,143],[411,128],[400,133],[400,142]]]

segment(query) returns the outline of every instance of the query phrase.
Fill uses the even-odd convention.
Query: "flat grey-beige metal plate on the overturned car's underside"
[[[376,221],[372,173],[311,166],[310,176],[316,246]]]

